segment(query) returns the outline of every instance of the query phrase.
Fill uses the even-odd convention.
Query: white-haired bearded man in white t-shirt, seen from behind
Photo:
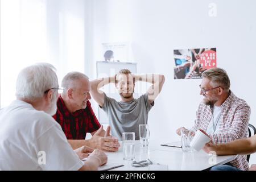
[[[16,100],[0,111],[0,170],[96,170],[106,163],[100,150],[74,151],[51,117],[58,96],[54,69],[40,63],[19,73]]]

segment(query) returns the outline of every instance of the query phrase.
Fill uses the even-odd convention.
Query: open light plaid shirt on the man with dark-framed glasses
[[[209,134],[213,143],[227,143],[236,139],[246,138],[250,119],[250,107],[230,91],[229,97],[221,105],[221,118],[218,133]],[[212,109],[203,103],[196,113],[196,129],[207,130],[212,120]],[[246,155],[237,155],[231,162],[234,167],[248,170]]]

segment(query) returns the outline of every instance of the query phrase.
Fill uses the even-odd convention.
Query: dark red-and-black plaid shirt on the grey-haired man
[[[85,139],[86,133],[92,133],[100,128],[90,102],[87,101],[85,109],[69,113],[63,99],[59,96],[57,100],[57,112],[53,118],[60,124],[67,139]]]

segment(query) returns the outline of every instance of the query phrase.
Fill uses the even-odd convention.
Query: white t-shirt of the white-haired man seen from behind
[[[77,170],[83,165],[51,115],[19,100],[0,111],[0,170]]]

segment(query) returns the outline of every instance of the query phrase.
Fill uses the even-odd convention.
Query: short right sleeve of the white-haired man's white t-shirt
[[[44,132],[36,142],[36,154],[43,151],[42,154],[46,157],[46,163],[39,165],[43,170],[77,171],[84,165],[57,123]]]

